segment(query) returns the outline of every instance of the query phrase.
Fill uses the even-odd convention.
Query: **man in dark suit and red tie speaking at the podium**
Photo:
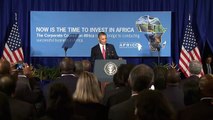
[[[116,50],[112,44],[107,43],[107,35],[104,32],[98,34],[99,43],[91,50],[91,63],[96,59],[118,59]]]

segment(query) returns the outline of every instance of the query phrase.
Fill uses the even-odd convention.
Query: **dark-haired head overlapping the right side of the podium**
[[[131,70],[135,67],[133,64],[121,64],[117,73],[113,76],[113,82],[115,86],[126,86],[128,83],[128,77]]]

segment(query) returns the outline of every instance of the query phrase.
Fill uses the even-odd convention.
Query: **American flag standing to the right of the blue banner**
[[[191,60],[198,60],[201,62],[200,52],[189,20],[184,33],[179,59],[179,67],[186,77],[190,76],[189,63]],[[203,70],[201,71],[201,75],[203,75]]]

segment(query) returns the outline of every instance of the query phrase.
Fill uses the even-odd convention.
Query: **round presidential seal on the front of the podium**
[[[104,66],[104,72],[109,75],[109,76],[113,76],[118,70],[118,67],[115,63],[113,62],[108,62],[105,66]]]

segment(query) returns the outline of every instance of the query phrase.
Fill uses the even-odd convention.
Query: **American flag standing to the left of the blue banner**
[[[8,40],[3,50],[3,58],[10,63],[24,61],[24,54],[17,21],[13,24]]]

